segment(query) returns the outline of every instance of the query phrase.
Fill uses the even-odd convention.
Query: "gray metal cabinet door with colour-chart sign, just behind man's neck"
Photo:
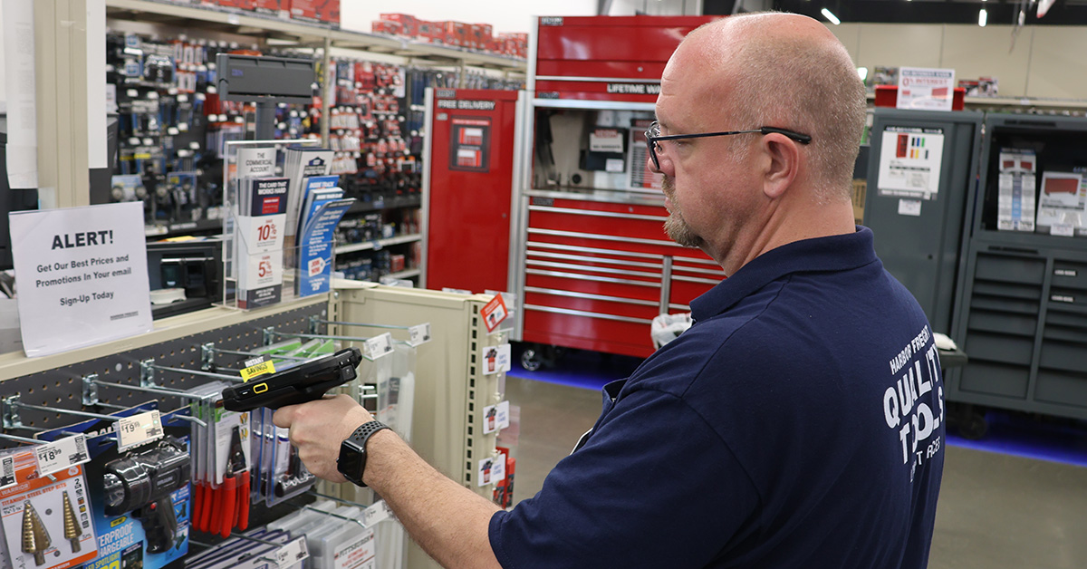
[[[875,234],[876,253],[884,267],[917,299],[933,330],[945,334],[951,330],[963,219],[977,172],[983,117],[974,111],[880,108],[873,116],[864,224]],[[910,131],[944,137],[939,187],[930,199],[880,189],[887,185],[879,180],[884,133]],[[886,151],[895,152],[896,148]]]

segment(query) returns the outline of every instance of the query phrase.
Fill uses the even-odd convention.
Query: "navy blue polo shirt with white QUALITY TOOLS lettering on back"
[[[926,567],[939,359],[872,232],[773,249],[691,309],[539,494],[491,518],[502,567]]]

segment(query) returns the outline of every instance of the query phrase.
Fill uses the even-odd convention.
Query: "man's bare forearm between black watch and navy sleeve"
[[[487,536],[498,506],[438,472],[391,431],[370,438],[366,457],[363,482],[442,567],[501,567]]]

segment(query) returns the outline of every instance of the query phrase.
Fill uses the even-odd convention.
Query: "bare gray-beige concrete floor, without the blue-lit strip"
[[[520,502],[592,426],[601,396],[511,376],[505,394],[520,407],[510,433]],[[1087,468],[947,447],[929,567],[1087,568]]]

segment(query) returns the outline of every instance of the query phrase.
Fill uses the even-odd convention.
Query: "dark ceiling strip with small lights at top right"
[[[703,0],[702,10],[710,14],[732,14],[737,1]],[[1041,18],[1036,17],[1037,2],[1009,0],[774,0],[774,10],[795,12],[825,21],[826,8],[842,23],[876,22],[889,24],[974,24],[982,8],[988,12],[989,24],[1012,25],[1019,21],[1021,7],[1026,7],[1027,25],[1087,25],[1087,0],[1057,0]],[[739,10],[744,11],[744,10]]]

